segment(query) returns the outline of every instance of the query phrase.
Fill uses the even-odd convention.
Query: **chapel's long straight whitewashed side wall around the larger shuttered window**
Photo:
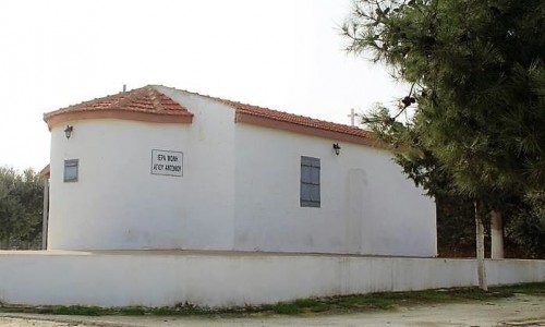
[[[242,123],[235,140],[235,249],[436,255],[435,204],[389,152]],[[300,206],[301,156],[320,159],[319,208]]]

